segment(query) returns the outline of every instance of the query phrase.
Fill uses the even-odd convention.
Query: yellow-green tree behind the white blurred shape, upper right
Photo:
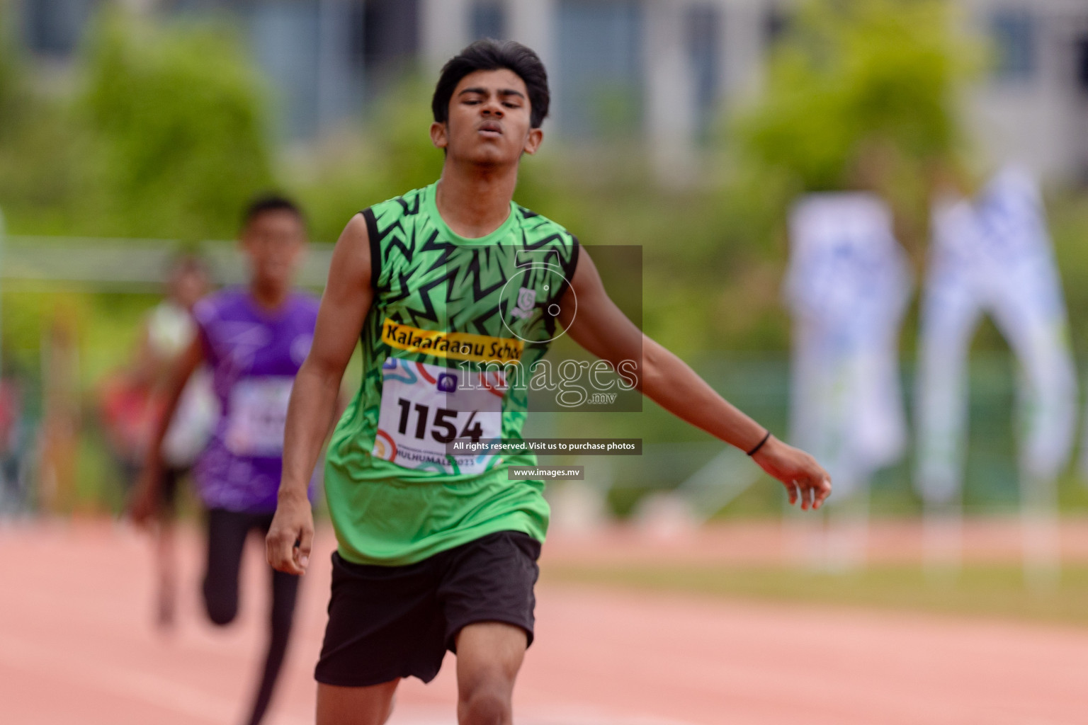
[[[781,266],[799,193],[865,189],[890,203],[920,264],[935,172],[961,166],[968,148],[956,107],[979,49],[948,0],[801,4],[763,96],[730,125],[731,242]]]

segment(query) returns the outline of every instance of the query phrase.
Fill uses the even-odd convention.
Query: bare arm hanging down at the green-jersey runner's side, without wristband
[[[287,407],[283,478],[275,516],[265,538],[269,564],[302,574],[313,542],[307,488],[336,410],[341,379],[370,311],[370,238],[362,214],[344,227],[329,265],[310,354],[298,370]]]

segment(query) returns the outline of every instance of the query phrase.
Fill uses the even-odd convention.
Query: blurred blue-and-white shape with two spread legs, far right
[[[1052,480],[1076,426],[1076,372],[1061,280],[1038,185],[1005,168],[972,203],[934,209],[922,300],[916,486],[930,503],[957,500],[967,425],[967,352],[982,313],[1021,365],[1021,474]]]

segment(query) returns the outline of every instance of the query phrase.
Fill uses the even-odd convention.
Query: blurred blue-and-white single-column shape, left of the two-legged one
[[[875,195],[804,197],[790,239],[790,435],[828,468],[836,498],[845,498],[906,443],[898,342],[910,271]]]

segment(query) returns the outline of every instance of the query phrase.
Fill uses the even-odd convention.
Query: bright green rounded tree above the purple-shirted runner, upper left
[[[247,199],[272,182],[263,86],[237,39],[218,26],[151,27],[108,8],[87,67],[95,233],[232,235]]]

